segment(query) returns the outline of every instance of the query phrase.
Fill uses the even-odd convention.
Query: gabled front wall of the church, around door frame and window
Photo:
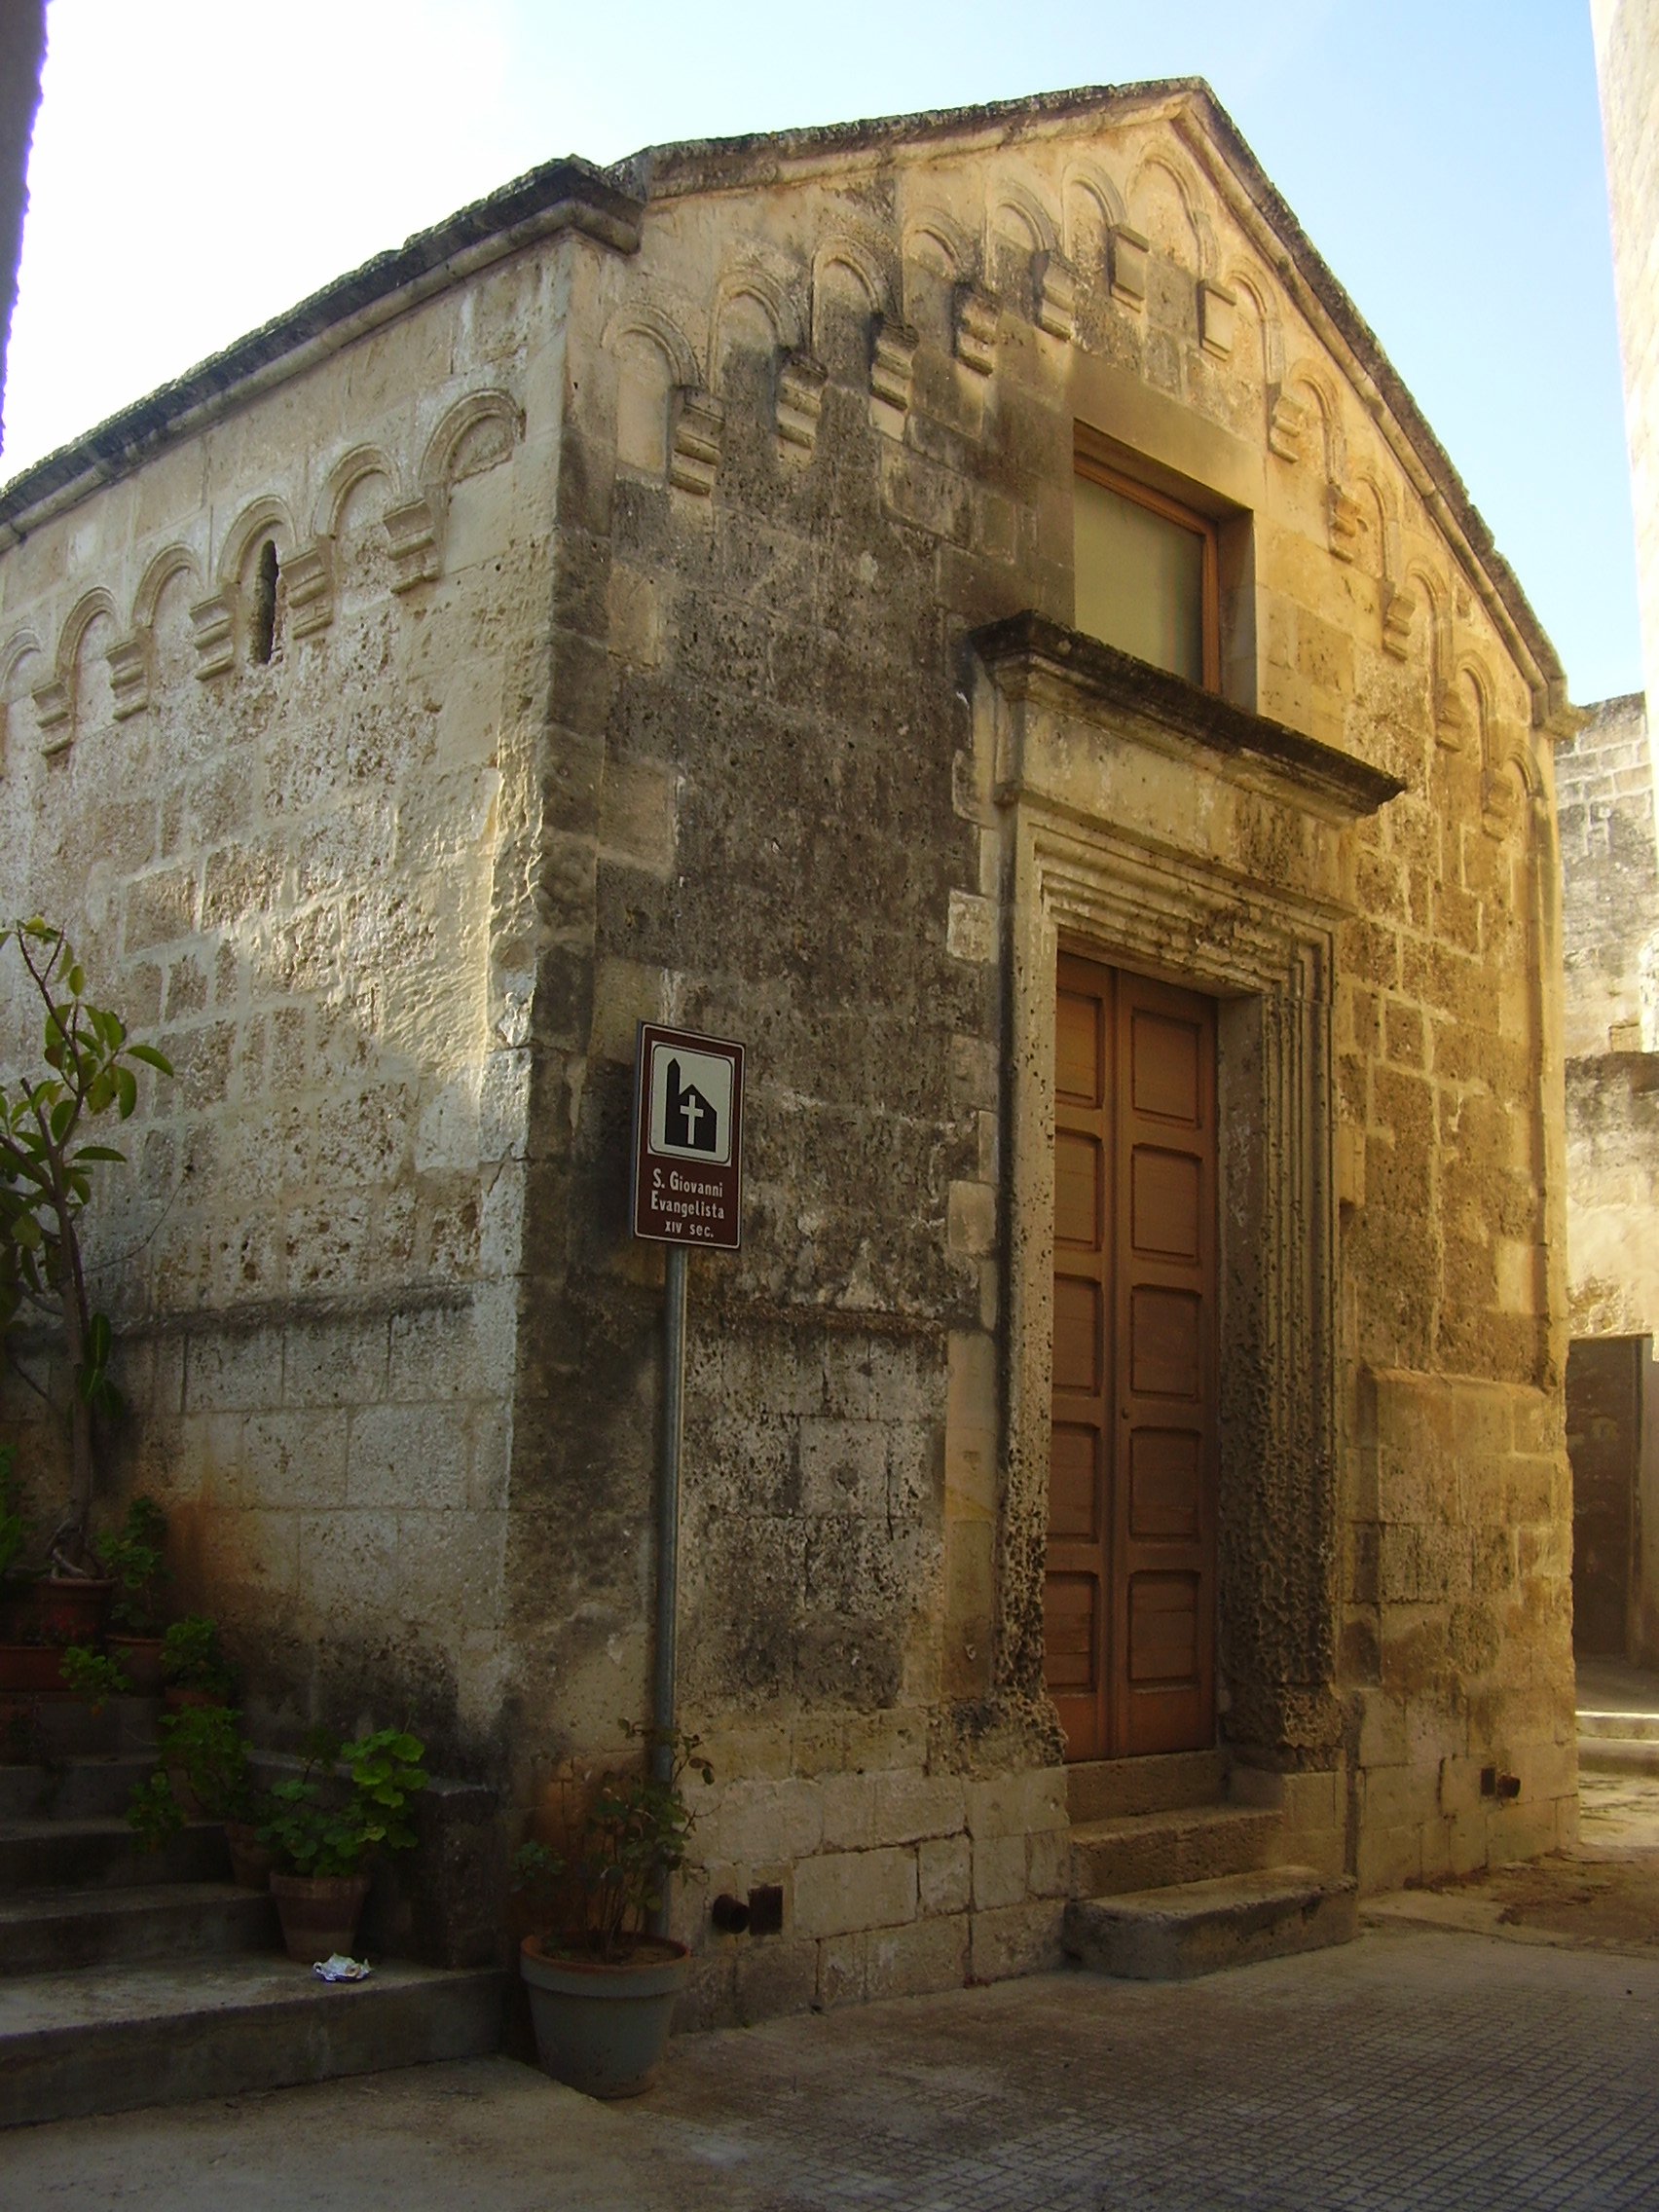
[[[953,1978],[971,1931],[880,1933],[927,1924],[905,1867],[916,1851],[920,1900],[953,1829],[841,1829],[827,1805],[843,1783],[909,1803],[918,1754],[894,1732],[925,1743],[929,1790],[1057,1785],[1040,1546],[1009,1522],[1006,1265],[1029,1225],[967,637],[1024,608],[1071,619],[1082,418],[1248,511],[1225,542],[1228,695],[1407,785],[1336,869],[1340,1436],[1323,1617],[1298,1624],[1307,1672],[1281,1701],[1307,1719],[1241,1750],[1312,1856],[1367,1882],[1447,1865],[1453,1820],[1462,1863],[1544,1847],[1575,1803],[1548,681],[1199,135],[1159,115],[995,159],[814,150],[763,184],[734,159],[633,164],[641,252],[597,268],[571,323],[557,562],[597,783],[571,821],[595,867],[593,905],[584,878],[568,909],[575,1011],[549,1031],[549,1082],[568,1097],[580,1066],[580,1108],[538,1124],[571,1230],[533,1243],[557,1254],[538,1389],[584,1442],[535,1480],[573,1484],[604,1557],[602,1601],[571,1575],[535,1630],[577,1697],[564,1723],[597,1745],[606,1697],[644,1681],[653,1385],[619,1436],[613,1363],[653,1371],[655,1267],[604,1192],[635,1020],[672,1018],[752,1055],[745,1250],[695,1265],[690,1307],[684,1699],[719,1747],[710,1893],[757,1869],[794,1885],[774,1953],[792,2002],[841,1986],[823,1947],[854,1938],[865,1986],[898,1986],[900,1953]],[[604,856],[619,772],[672,821],[655,869]],[[1374,1473],[1378,1378],[1444,1431],[1409,1495]],[[526,1586],[575,1535],[549,1513]],[[1464,1809],[1486,1765],[1520,1796]],[[816,1871],[825,1843],[869,1865]],[[971,1823],[969,1847],[978,1865]],[[1024,1878],[1042,1927],[1035,1858]],[[830,1885],[860,1902],[821,1918]],[[971,1916],[971,1891],[942,1896]],[[743,1955],[706,1951],[719,2004],[759,2002]]]

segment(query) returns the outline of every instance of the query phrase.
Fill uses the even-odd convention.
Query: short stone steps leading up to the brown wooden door
[[[1066,1951],[1099,1973],[1175,1982],[1347,1942],[1352,1876],[1281,1865],[1283,1816],[1230,1794],[1225,1752],[1066,1767]]]

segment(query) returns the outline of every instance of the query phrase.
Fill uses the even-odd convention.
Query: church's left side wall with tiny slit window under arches
[[[555,325],[538,268],[451,292],[0,557],[7,907],[60,918],[177,1068],[91,1217],[131,1400],[100,1513],[164,1500],[177,1601],[228,1624],[261,1725],[407,1717],[473,1770],[504,1670]],[[35,1022],[13,969],[4,993],[15,1062]],[[35,1413],[13,1383],[46,1502]]]

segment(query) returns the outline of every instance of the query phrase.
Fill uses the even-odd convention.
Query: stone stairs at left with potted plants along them
[[[49,1714],[51,1719],[51,1714]],[[0,2126],[283,2088],[500,2046],[504,1975],[378,1962],[319,1982],[239,1889],[221,1829],[159,1854],[124,1812],[155,1708],[86,1714],[51,1765],[0,1765]]]

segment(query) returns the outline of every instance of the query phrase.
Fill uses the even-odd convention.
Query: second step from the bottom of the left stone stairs
[[[0,1975],[279,1949],[270,1891],[234,1882],[42,1889],[0,1898]]]

